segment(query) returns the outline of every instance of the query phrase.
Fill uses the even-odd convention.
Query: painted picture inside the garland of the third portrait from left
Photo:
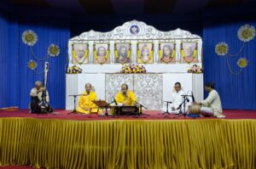
[[[128,50],[130,48],[129,43],[119,43],[116,44],[116,48],[118,51],[118,57],[115,57],[115,63],[125,64],[130,63],[131,59],[128,58]]]

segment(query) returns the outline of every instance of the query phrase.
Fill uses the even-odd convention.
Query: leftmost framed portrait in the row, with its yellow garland
[[[88,64],[88,44],[75,43],[72,45],[73,64]]]

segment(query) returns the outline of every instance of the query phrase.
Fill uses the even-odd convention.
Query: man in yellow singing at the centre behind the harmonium
[[[115,96],[115,99],[118,104],[123,104],[123,105],[136,104],[136,97],[132,91],[128,90],[127,84],[122,84],[121,91],[117,93],[117,95]]]

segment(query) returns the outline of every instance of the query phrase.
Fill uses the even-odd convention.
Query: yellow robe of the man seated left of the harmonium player
[[[80,113],[90,114],[90,109],[94,108],[93,110],[91,110],[91,112],[95,112],[97,110],[95,109],[97,106],[92,101],[97,100],[96,93],[90,91],[89,95],[86,95],[86,92],[84,92],[83,94],[84,96],[79,96],[79,107],[76,110]],[[84,110],[83,108],[87,108],[89,110]]]

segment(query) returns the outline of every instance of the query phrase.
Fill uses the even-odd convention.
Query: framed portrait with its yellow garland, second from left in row
[[[93,61],[94,64],[109,64],[109,47],[108,43],[94,44]]]

